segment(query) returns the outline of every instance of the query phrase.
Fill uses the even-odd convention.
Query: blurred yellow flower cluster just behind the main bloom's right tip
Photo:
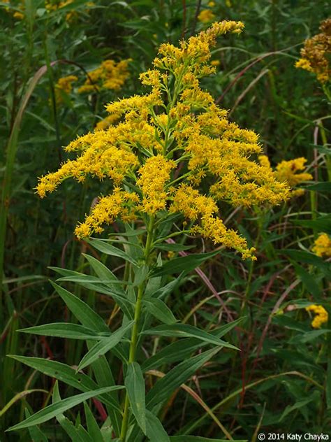
[[[267,155],[259,155],[258,161],[260,162],[261,166],[271,170],[270,161]],[[295,187],[297,184],[303,183],[304,181],[312,180],[313,176],[311,176],[310,173],[297,173],[298,171],[304,170],[304,164],[306,164],[306,162],[307,159],[304,157],[290,159],[289,161],[281,161],[276,166],[275,176],[277,180],[286,183],[291,188]],[[290,192],[290,196],[299,197],[303,194],[303,192],[304,190],[302,189],[292,190]]]

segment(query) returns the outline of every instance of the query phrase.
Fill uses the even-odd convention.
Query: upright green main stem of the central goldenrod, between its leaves
[[[145,244],[145,264],[149,263],[149,253],[151,251],[153,234],[154,234],[154,216],[149,218],[149,225],[147,227],[147,238]],[[128,354],[128,364],[132,364],[135,361],[135,353],[137,351],[137,343],[138,343],[138,330],[139,330],[139,322],[142,308],[142,297],[145,292],[146,280],[144,280],[138,287],[137,301],[135,303],[135,315],[134,315],[134,323],[132,327],[131,333],[131,341],[130,341],[130,351]],[[124,413],[123,413],[123,421],[122,421],[122,429],[119,438],[121,441],[125,441],[126,433],[128,432],[128,393],[125,395],[124,402]]]

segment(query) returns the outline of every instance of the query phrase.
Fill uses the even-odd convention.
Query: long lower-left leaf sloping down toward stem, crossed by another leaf
[[[50,359],[43,359],[42,357],[7,356],[12,357],[18,362],[22,362],[22,364],[31,367],[31,369],[41,371],[41,373],[46,376],[61,380],[61,382],[71,385],[71,387],[75,387],[82,392],[90,392],[91,390],[98,389],[98,384],[93,379],[84,373],[77,373],[71,366],[63,364],[62,362],[51,361]],[[103,394],[101,401],[118,411],[122,411],[118,402],[112,397],[112,394]]]

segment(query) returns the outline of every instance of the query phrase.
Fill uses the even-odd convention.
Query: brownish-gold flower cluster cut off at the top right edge
[[[304,42],[300,51],[301,58],[295,63],[296,68],[314,72],[318,81],[326,83],[330,80],[331,54],[331,18],[321,22],[321,33]]]

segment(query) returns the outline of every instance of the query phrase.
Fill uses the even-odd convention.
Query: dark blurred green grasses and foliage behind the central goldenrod
[[[145,92],[138,74],[149,67],[159,44],[177,43],[208,26],[198,18],[201,10],[211,10],[215,20],[245,24],[240,37],[224,36],[214,49],[217,73],[205,80],[205,88],[230,110],[230,119],[260,134],[272,166],[305,157],[317,184],[272,211],[222,207],[227,226],[249,239],[258,261],[242,262],[222,251],[186,276],[169,303],[177,318],[206,330],[244,316],[227,336],[241,352],[225,349],[205,364],[188,384],[198,399],[178,390],[161,410],[163,425],[169,434],[180,429],[221,437],[223,432],[210,417],[212,410],[234,439],[255,441],[258,432],[269,431],[330,431],[330,320],[314,330],[305,310],[309,304],[321,304],[330,313],[330,263],[311,252],[318,234],[331,234],[330,115],[316,76],[294,66],[304,40],[318,34],[321,20],[327,18],[328,2],[214,3],[0,2],[1,441],[29,440],[27,433],[3,431],[24,418],[24,408],[32,412],[45,406],[53,386],[51,378],[5,355],[77,364],[84,351],[75,341],[64,344],[57,338],[16,332],[70,319],[48,282],[54,279],[50,267],[86,270],[81,253],[89,245],[78,241],[73,229],[98,194],[92,181],[83,186],[68,182],[41,202],[34,193],[36,177],[57,169],[66,155],[61,146],[92,130],[106,116],[104,104]],[[87,72],[106,59],[130,59],[124,85],[78,93]],[[78,80],[71,90],[59,92],[57,82],[66,76]],[[117,231],[116,224],[113,229]],[[212,243],[200,241],[193,252],[212,249]],[[103,261],[122,273],[117,259]],[[67,287],[71,289],[71,283]],[[75,293],[116,325],[110,299],[83,288]],[[170,339],[151,337],[144,351],[152,355],[166,343]],[[73,390],[61,388],[63,396]],[[44,391],[29,392],[34,389]],[[98,407],[95,416],[102,422]],[[54,424],[44,427],[51,441],[66,440]]]

